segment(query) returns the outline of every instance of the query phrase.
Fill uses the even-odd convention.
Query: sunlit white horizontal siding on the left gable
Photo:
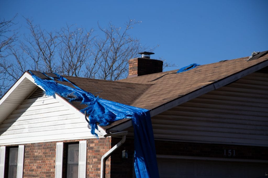
[[[0,145],[94,137],[87,122],[36,90],[0,125]]]

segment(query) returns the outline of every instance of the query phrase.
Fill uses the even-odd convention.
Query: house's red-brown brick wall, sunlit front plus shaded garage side
[[[100,177],[101,157],[121,138],[87,139],[87,172],[86,177]],[[65,143],[80,140],[63,141]],[[55,177],[56,142],[31,143],[25,145],[24,178]],[[67,144],[64,144],[67,145]],[[16,145],[12,145],[16,146]],[[239,159],[268,159],[268,150],[261,146],[201,144],[188,142],[155,141],[157,154],[227,157]],[[122,150],[128,150],[128,158],[122,158]],[[224,155],[225,151],[226,155]],[[228,156],[231,150],[232,155]],[[235,156],[233,155],[235,150]],[[64,152],[66,157],[66,152]],[[133,177],[134,140],[127,138],[125,143],[106,160],[105,172],[109,178]],[[65,159],[64,159],[65,160]],[[63,176],[65,176],[65,169]]]

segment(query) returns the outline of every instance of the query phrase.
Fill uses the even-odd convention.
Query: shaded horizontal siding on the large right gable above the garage
[[[236,82],[152,117],[156,139],[268,145],[268,74]]]

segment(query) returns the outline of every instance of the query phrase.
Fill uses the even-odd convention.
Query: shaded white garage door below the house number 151
[[[162,158],[157,162],[159,175],[163,178],[256,178],[268,173],[266,163]]]

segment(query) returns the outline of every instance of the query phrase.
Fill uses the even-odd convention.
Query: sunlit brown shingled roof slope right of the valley
[[[248,57],[224,60],[217,63],[200,65],[182,73],[176,73],[177,70],[173,70],[127,78],[120,81],[151,84],[150,89],[140,95],[133,105],[146,109],[155,109],[174,99],[261,64],[268,60],[268,54],[251,61],[247,61],[247,59]],[[266,66],[267,64],[264,64],[262,67]]]

